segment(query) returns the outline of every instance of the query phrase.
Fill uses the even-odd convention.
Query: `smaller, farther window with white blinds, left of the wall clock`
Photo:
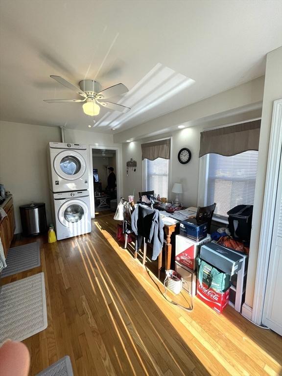
[[[144,159],[144,187],[154,190],[156,196],[167,197],[168,193],[168,159],[157,158],[154,161]]]

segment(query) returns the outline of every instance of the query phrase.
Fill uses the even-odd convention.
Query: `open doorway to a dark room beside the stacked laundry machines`
[[[101,146],[90,148],[93,215],[115,213],[118,197],[118,150]]]

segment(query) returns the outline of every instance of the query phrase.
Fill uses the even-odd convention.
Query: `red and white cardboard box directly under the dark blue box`
[[[208,235],[200,241],[194,241],[187,237],[175,236],[175,261],[187,266],[191,270],[196,270],[196,257],[200,252],[201,245],[209,243],[211,236]],[[181,273],[180,273],[181,274]]]

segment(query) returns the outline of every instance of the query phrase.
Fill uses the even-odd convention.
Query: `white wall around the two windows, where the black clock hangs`
[[[180,182],[183,185],[183,195],[181,197],[181,201],[185,204],[185,206],[197,206],[200,133],[203,129],[249,120],[252,118],[259,118],[260,116],[261,110],[248,111],[242,114],[226,116],[225,118],[219,118],[216,120],[213,119],[211,121],[203,122],[197,126],[188,127],[170,133],[168,132],[162,135],[162,138],[171,137],[171,186],[168,188],[170,195],[169,198],[175,198],[173,193],[171,193],[172,184],[175,182]],[[135,189],[135,192],[139,192],[143,188],[141,143],[158,138],[160,137],[151,137],[141,141],[132,141],[122,144],[122,159],[124,165],[126,164],[126,161],[130,160],[130,158],[137,161],[137,171],[133,172],[130,170],[128,176],[126,175],[126,169],[124,167],[124,197],[132,194],[133,189]],[[192,154],[191,160],[188,164],[180,164],[177,158],[179,150],[183,147],[188,147]]]

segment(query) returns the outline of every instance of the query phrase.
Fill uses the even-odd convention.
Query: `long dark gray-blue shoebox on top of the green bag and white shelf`
[[[200,258],[230,276],[241,269],[243,262],[242,255],[216,243],[202,245]]]

